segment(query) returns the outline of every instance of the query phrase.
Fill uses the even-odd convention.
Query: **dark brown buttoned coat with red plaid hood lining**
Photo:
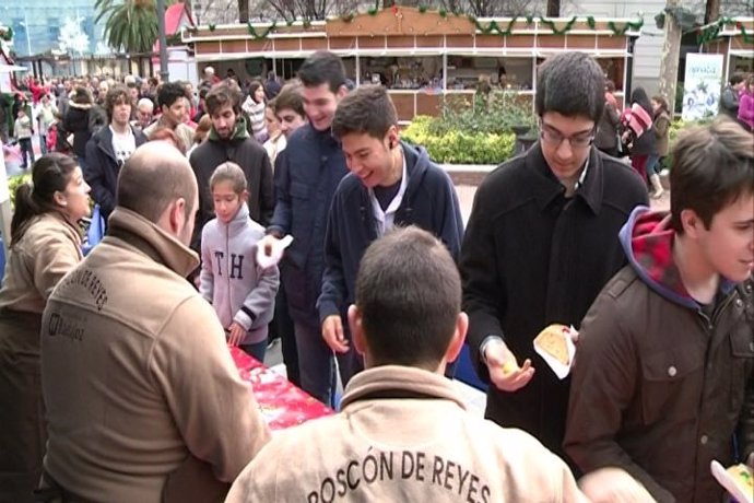
[[[638,209],[621,233],[629,265],[584,320],[565,449],[584,471],[625,469],[659,503],[720,502],[711,460],[754,453],[753,280],[722,280],[705,314],[669,220]]]

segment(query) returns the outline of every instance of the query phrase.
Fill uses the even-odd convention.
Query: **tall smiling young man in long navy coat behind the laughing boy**
[[[340,143],[330,126],[335,107],[347,93],[340,57],[317,51],[298,69],[302,101],[309,122],[287,138],[275,160],[275,210],[259,243],[269,252],[286,234],[294,237],[281,264],[281,281],[293,318],[302,388],[330,403],[333,388],[332,351],[322,340],[317,297],[325,260],[322,241],[332,195],[347,174]]]

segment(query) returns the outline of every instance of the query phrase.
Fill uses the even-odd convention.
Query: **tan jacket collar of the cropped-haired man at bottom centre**
[[[402,365],[384,365],[356,374],[345,387],[341,408],[360,400],[424,397],[455,401],[466,410],[452,382],[434,372]]]

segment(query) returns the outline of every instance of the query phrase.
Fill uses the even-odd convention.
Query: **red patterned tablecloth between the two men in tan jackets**
[[[333,413],[321,401],[240,349],[231,348],[231,356],[240,372],[240,378],[251,384],[254,397],[271,430],[284,430]]]

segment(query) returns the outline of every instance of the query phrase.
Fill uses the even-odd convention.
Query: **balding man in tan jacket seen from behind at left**
[[[42,325],[55,500],[217,501],[270,438],[212,307],[185,280],[198,207],[165,142],[120,172],[103,242],[52,292]]]

